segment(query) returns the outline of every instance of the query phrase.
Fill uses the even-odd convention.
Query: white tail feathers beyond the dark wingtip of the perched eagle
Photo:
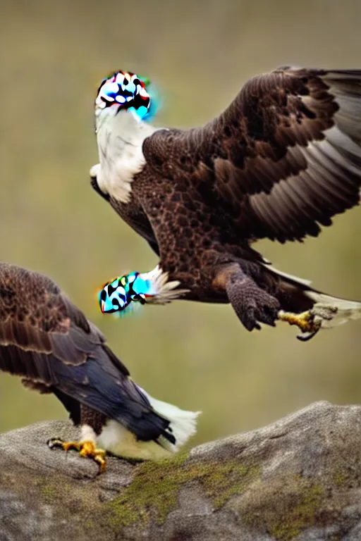
[[[159,438],[159,443],[165,449],[176,453],[182,445],[189,440],[189,438],[197,432],[197,417],[202,413],[201,411],[185,411],[173,406],[173,404],[167,404],[167,402],[161,402],[149,396],[145,390],[142,392],[147,396],[152,408],[154,408],[159,415],[171,421],[169,428],[171,433],[176,438],[176,444],[172,444],[165,437]]]

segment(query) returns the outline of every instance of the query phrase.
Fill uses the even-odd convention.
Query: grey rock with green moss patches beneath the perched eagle
[[[0,435],[0,541],[360,541],[361,406],[318,402],[159,463],[75,452],[71,423]]]

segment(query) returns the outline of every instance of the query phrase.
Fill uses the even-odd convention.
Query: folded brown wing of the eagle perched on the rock
[[[0,370],[126,425],[142,440],[169,421],[152,410],[104,336],[49,278],[0,263]],[[69,404],[68,404],[69,405]]]

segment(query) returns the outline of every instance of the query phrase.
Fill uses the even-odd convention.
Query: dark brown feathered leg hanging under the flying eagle
[[[220,281],[224,281],[228,300],[247,330],[260,329],[259,323],[275,326],[281,308],[279,300],[259,287],[240,266],[232,265],[221,271],[214,285],[220,285]]]

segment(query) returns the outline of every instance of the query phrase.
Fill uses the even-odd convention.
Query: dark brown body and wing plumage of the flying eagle
[[[185,299],[228,302],[216,277],[237,263],[279,301],[261,318],[273,323],[279,308],[313,301],[297,280],[269,272],[250,244],[317,236],[360,203],[361,70],[254,77],[203,128],[157,130],[142,150],[130,201],[109,192],[111,206],[160,255],[169,279],[190,290]]]

